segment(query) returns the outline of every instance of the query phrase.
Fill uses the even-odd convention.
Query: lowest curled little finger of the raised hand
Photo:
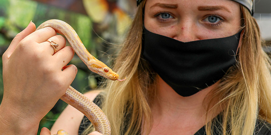
[[[65,80],[69,84],[72,83],[72,81],[75,79],[77,73],[77,68],[75,65],[68,65],[63,68],[63,71],[61,72],[62,75],[60,75],[62,80]]]

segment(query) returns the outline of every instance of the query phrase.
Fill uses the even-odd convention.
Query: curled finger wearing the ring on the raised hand
[[[59,45],[57,46],[56,51],[54,51],[55,50],[54,46],[51,45],[51,42],[49,42],[49,40]],[[61,50],[62,48],[66,46],[66,40],[63,36],[56,35],[56,36],[50,37],[47,41],[40,43],[40,45],[44,47],[45,52],[48,52],[51,55],[53,55],[54,52],[58,52],[59,50]]]

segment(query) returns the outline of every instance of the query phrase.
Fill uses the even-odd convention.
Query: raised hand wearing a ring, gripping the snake
[[[55,54],[47,40],[59,44]],[[65,94],[77,73],[74,65],[66,66],[74,51],[65,44],[65,38],[52,28],[35,31],[33,22],[13,39],[2,56],[0,125],[5,126],[0,126],[0,133],[9,126],[18,131],[36,127],[33,132],[37,132],[40,120]]]

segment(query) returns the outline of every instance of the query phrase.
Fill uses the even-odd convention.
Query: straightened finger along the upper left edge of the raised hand
[[[6,60],[10,58],[10,55],[16,48],[17,44],[27,35],[29,35],[30,33],[33,33],[35,29],[36,29],[35,24],[32,21],[30,21],[28,26],[14,37],[14,39],[10,43],[10,46],[7,48],[6,52],[3,54],[3,58],[2,58],[3,63],[6,62]]]

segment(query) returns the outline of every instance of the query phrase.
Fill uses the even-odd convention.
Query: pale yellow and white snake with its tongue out
[[[87,65],[87,67],[91,71],[107,79],[119,80],[118,79],[119,75],[117,73],[112,71],[111,68],[107,67],[107,65],[96,59],[87,51],[75,30],[66,22],[55,19],[48,20],[39,25],[36,30],[45,27],[51,27],[55,29],[56,33],[65,36],[69,43],[71,44],[71,47],[76,52],[76,54],[80,57],[80,59]],[[69,88],[66,91],[66,94],[63,95],[60,99],[68,103],[69,105],[73,106],[74,108],[82,112],[84,115],[86,115],[87,118],[91,121],[91,123],[95,127],[96,131],[104,135],[111,134],[110,123],[105,114],[103,113],[103,111],[95,103],[93,103],[91,100],[89,100],[86,96],[84,96],[80,92],[76,91],[73,87],[69,86]],[[58,134],[64,135],[67,134],[67,132],[59,130]]]

